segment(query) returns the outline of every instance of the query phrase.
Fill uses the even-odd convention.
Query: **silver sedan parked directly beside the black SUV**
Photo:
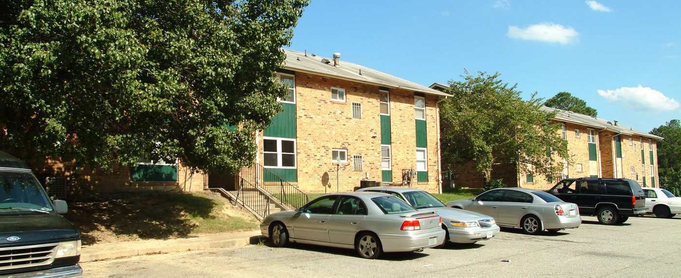
[[[528,188],[492,189],[472,199],[447,202],[447,207],[490,215],[499,226],[519,227],[527,234],[557,232],[582,224],[577,205]]]

